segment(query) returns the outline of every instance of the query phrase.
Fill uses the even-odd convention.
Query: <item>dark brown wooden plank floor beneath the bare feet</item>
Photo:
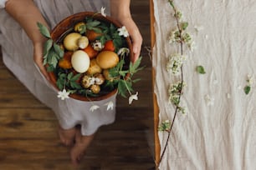
[[[155,169],[151,92],[150,16],[148,0],[132,0],[131,12],[144,37],[140,100],[129,106],[119,97],[115,123],[100,128],[79,168],[56,133],[57,120],[3,65],[0,54],[0,169],[1,170],[148,170]]]

